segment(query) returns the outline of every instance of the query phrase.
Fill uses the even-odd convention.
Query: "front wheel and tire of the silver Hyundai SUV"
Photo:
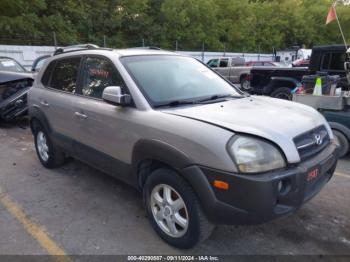
[[[214,226],[204,215],[191,186],[175,171],[155,170],[143,192],[149,221],[169,245],[188,249],[211,235]]]

